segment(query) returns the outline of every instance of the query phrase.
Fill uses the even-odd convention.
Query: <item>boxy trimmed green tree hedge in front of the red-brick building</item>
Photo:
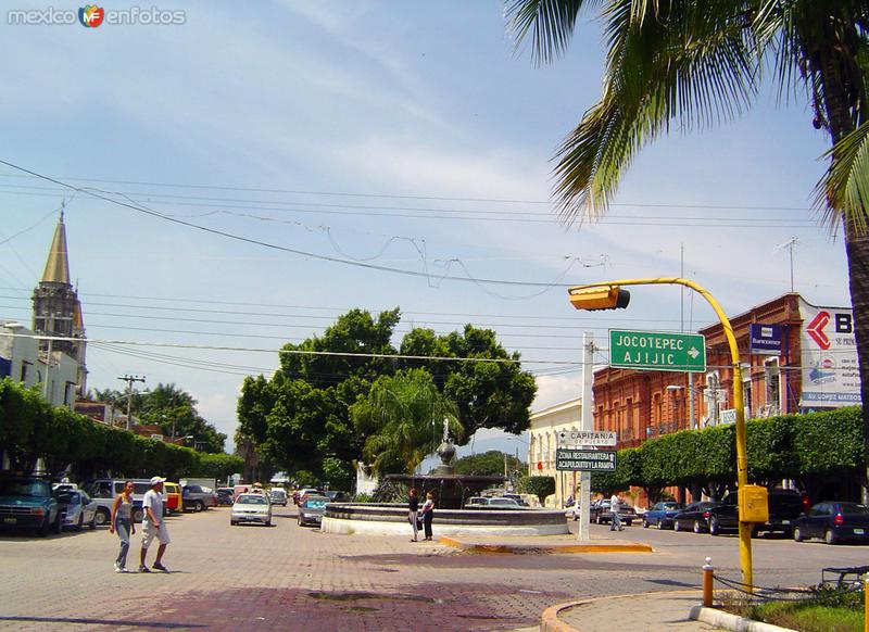
[[[862,480],[864,426],[859,407],[782,415],[746,422],[748,478],[757,483],[823,477]],[[736,480],[735,427],[683,430],[618,451],[616,471],[594,473],[592,489],[612,493],[628,486],[659,490]],[[653,495],[653,494],[651,494]]]

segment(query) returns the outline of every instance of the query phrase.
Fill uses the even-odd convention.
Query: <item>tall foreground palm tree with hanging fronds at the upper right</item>
[[[608,53],[601,100],[556,154],[566,223],[603,214],[638,150],[670,126],[689,130],[748,109],[765,73],[808,97],[830,136],[816,204],[844,232],[864,402],[869,482],[869,0],[511,0],[517,46],[536,62],[569,46],[579,14],[602,8]]]

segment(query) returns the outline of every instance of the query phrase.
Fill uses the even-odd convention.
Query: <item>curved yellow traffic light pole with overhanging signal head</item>
[[[588,295],[589,290],[593,288],[605,288],[607,286],[609,287],[609,298],[612,298],[614,301],[612,304],[602,306],[600,298],[590,295],[590,299],[593,302],[589,304],[589,307],[582,306],[581,296],[583,294]],[[736,408],[736,484],[739,485],[740,490],[746,489],[746,485],[748,484],[748,457],[745,448],[745,406],[742,394],[742,369],[740,367],[740,352],[736,347],[736,337],[733,336],[733,327],[730,325],[730,320],[728,319],[723,309],[721,309],[721,305],[718,304],[718,301],[716,301],[715,296],[713,296],[705,288],[698,286],[694,281],[682,279],[680,277],[619,279],[616,281],[587,283],[584,286],[574,286],[569,288],[568,294],[571,296],[571,303],[578,309],[625,307],[627,306],[627,300],[624,300],[619,304],[615,303],[617,296],[619,295],[619,286],[684,286],[687,288],[691,288],[701,296],[706,299],[706,302],[711,305],[713,309],[715,309],[715,313],[718,315],[718,319],[721,321],[721,327],[723,328],[728,345],[730,346],[730,357],[733,371],[733,405]],[[604,302],[606,302],[606,298],[604,298]],[[752,578],[752,523],[744,522],[742,520],[742,509],[743,507],[740,507],[740,567],[742,568],[742,581],[748,586],[748,591],[751,591],[752,586],[754,585]]]

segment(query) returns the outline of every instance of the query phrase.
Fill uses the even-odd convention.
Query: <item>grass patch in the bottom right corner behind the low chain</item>
[[[864,632],[861,592],[818,586],[801,602],[760,604],[731,595],[722,599],[722,607],[740,617],[799,632]]]

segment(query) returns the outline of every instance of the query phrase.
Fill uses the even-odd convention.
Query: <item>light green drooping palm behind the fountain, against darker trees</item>
[[[425,369],[406,369],[381,376],[367,397],[350,407],[357,431],[367,434],[363,456],[378,475],[395,464],[413,473],[441,440],[446,420],[454,438],[464,433],[457,407],[445,399]]]

